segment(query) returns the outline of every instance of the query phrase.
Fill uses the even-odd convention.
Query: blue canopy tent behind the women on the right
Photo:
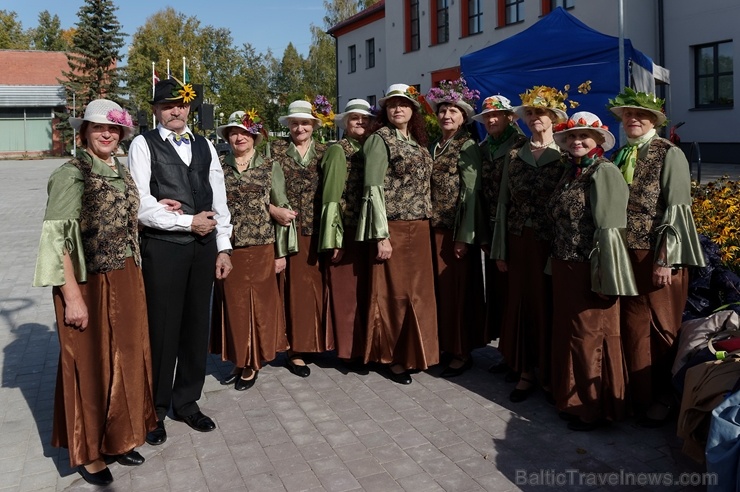
[[[624,58],[630,85],[654,92],[657,66],[652,60],[629,39],[624,40]],[[590,111],[614,129],[617,122],[605,106],[627,85],[619,82],[619,38],[588,27],[562,7],[519,34],[463,56],[460,71],[468,87],[481,93],[478,110],[490,95],[501,94],[517,105],[519,94],[530,87],[549,85],[563,90],[569,84],[568,99],[580,105],[568,108],[568,114]],[[579,94],[578,85],[586,80],[591,81],[591,91]],[[618,131],[613,133],[619,138]]]

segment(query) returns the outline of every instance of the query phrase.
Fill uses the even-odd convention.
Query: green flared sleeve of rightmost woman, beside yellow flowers
[[[705,266],[704,253],[691,214],[691,173],[686,156],[678,147],[666,153],[660,178],[666,210],[656,229],[660,248],[665,241],[669,265]]]

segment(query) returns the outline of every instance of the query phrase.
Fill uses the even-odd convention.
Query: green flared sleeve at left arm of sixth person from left
[[[358,241],[383,239],[390,236],[385,212],[383,183],[388,170],[388,147],[379,135],[370,135],[363,147],[365,154],[365,188],[362,194],[360,218],[357,223]]]

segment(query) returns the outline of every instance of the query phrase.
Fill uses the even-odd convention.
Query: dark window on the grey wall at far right
[[[734,106],[732,93],[732,41],[694,47],[694,106]]]

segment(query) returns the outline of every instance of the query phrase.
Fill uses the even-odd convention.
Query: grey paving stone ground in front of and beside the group
[[[59,342],[50,289],[31,287],[46,181],[62,162],[0,161],[3,492],[94,488],[69,468],[66,450],[49,445]],[[740,166],[705,165],[702,180],[736,175],[735,169]],[[464,375],[442,379],[441,368],[433,367],[415,374],[409,386],[373,370],[347,371],[331,354],[314,359],[311,376],[300,379],[280,358],[245,392],[221,386],[218,381],[230,368],[210,357],[200,404],[218,428],[201,434],[168,419],[167,442],[142,446],[146,463],[140,467],[112,464],[115,481],[109,489],[705,489],[600,485],[599,479],[623,483],[642,472],[679,479],[703,468],[681,453],[674,426],[646,430],[627,421],[576,433],[566,429],[542,394],[510,403],[512,385],[486,371],[497,357],[493,346],[486,347],[475,352],[475,367]]]

